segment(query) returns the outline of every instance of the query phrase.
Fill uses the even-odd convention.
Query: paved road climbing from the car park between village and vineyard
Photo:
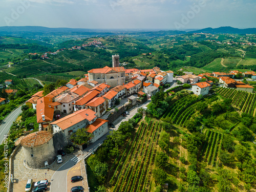
[[[138,108],[140,108],[141,106],[146,106],[151,102],[151,100],[147,100],[145,103],[143,103],[142,105],[137,105],[133,106],[133,108],[131,108],[129,110],[130,115],[127,115],[126,117],[119,117],[117,118],[113,124],[115,125],[115,128],[113,130],[117,130],[120,123],[122,121],[127,121],[130,118],[132,118],[136,113]],[[80,161],[80,159],[84,159],[87,156],[90,156],[102,143],[103,141],[106,139],[106,136],[108,136],[110,134],[111,131],[113,131],[112,129],[106,133],[105,135],[103,135],[99,140],[97,140],[95,143],[89,145],[83,152],[81,152],[81,154],[79,156],[74,156],[74,158],[71,158],[71,160],[69,160],[68,162],[66,162],[65,164],[63,164],[53,175],[52,177],[52,182],[51,182],[51,187],[50,187],[50,191],[51,192],[55,192],[55,191],[69,191],[69,189],[67,189],[67,174],[69,172],[69,169],[72,168],[77,162]],[[69,182],[69,181],[68,181]]]

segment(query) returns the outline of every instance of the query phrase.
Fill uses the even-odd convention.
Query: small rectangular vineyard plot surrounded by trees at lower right
[[[202,161],[207,162],[208,165],[216,166],[219,161],[223,134],[220,132],[207,130],[205,135],[206,141],[203,145],[200,158]]]

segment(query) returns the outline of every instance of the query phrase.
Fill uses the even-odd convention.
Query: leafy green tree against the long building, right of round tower
[[[88,143],[88,141],[93,137],[93,134],[89,134],[85,128],[78,129],[75,133],[73,133],[70,137],[74,143],[82,145],[84,143]]]

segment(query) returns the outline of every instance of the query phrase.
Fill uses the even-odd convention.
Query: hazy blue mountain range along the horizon
[[[22,26],[22,27],[0,27],[0,36],[2,35],[43,35],[43,34],[59,34],[59,35],[117,35],[117,34],[136,34],[146,36],[164,36],[164,35],[177,35],[186,33],[211,33],[211,34],[256,34],[256,28],[238,29],[233,27],[219,27],[219,28],[205,28],[195,31],[176,31],[176,30],[161,30],[161,31],[150,31],[150,30],[127,30],[127,29],[79,29],[79,28],[48,28],[40,26]]]

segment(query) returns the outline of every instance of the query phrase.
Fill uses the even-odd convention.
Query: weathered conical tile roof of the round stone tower
[[[24,147],[36,147],[43,145],[52,139],[52,133],[47,131],[38,131],[25,136],[20,142]]]

